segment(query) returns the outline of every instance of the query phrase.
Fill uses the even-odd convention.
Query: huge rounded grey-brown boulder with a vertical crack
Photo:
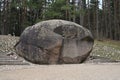
[[[18,55],[32,63],[81,63],[93,44],[88,29],[70,21],[47,20],[27,27],[15,48]]]

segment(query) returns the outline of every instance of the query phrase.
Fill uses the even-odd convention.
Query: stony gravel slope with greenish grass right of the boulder
[[[114,44],[108,44],[107,41],[97,41],[94,44],[91,56],[104,57],[109,58],[111,60],[120,61],[120,43],[118,43],[116,47],[116,45]]]

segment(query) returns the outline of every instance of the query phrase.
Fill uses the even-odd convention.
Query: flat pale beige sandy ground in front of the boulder
[[[15,69],[1,70],[0,80],[120,80],[120,64],[33,65],[14,67]]]

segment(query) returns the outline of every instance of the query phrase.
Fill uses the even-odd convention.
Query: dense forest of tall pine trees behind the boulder
[[[76,22],[99,40],[120,40],[120,0],[0,0],[0,35],[20,36],[49,19]]]

